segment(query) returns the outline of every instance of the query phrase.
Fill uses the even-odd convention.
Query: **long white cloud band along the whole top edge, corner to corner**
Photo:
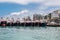
[[[42,3],[46,6],[60,6],[60,0],[0,0],[0,2],[12,2],[18,4]]]

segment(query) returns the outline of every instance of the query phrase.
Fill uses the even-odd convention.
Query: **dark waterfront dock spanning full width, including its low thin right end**
[[[16,22],[7,22],[1,21],[0,26],[48,26],[48,27],[60,27],[60,24],[48,24],[46,22],[40,21],[16,21]]]

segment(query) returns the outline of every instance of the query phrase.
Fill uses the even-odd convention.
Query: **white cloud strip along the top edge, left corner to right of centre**
[[[13,2],[18,4],[29,4],[29,3],[39,3],[43,2],[43,0],[0,0],[0,2]]]

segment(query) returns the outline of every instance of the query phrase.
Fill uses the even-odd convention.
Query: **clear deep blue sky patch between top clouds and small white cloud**
[[[12,12],[20,12],[22,10],[35,10],[39,5],[30,3],[28,5],[21,5],[16,3],[0,3],[0,16],[9,15]]]

